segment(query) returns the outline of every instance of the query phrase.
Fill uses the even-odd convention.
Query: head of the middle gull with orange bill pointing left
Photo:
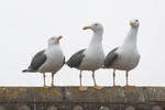
[[[102,32],[103,31],[103,26],[100,23],[94,23],[89,26],[85,26],[84,30],[90,29],[94,32]]]

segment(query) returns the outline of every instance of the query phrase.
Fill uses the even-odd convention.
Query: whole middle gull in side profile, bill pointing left
[[[80,80],[80,91],[87,90],[87,87],[81,85],[81,72],[82,70],[91,70],[92,72],[92,79],[95,82],[96,89],[101,89],[100,86],[97,86],[95,79],[95,72],[102,67],[105,61],[105,53],[102,48],[102,34],[103,34],[103,26],[100,23],[95,23],[89,26],[85,26],[84,30],[90,29],[94,31],[94,36],[90,41],[90,44],[87,48],[80,50],[75,53],[68,61],[67,65],[73,68],[77,68],[80,70],[79,80]]]

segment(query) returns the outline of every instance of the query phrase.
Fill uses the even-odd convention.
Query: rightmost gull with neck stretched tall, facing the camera
[[[139,30],[139,20],[130,20],[130,31],[123,44],[113,48],[103,62],[105,68],[113,68],[113,87],[116,86],[116,69],[125,70],[127,85],[129,88],[129,72],[135,68],[140,62],[140,54],[136,46],[136,35]]]

